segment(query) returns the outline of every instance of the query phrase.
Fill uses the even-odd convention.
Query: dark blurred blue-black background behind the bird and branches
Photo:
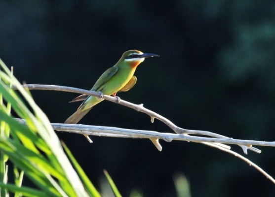
[[[0,1],[0,58],[29,84],[90,89],[129,49],[156,53],[136,70],[121,99],[144,103],[179,127],[234,138],[275,140],[274,0]],[[80,103],[76,94],[32,91],[53,123]],[[132,109],[108,101],[81,124],[172,132]],[[254,168],[196,143],[58,133],[98,186],[107,169],[123,196],[176,196],[184,173],[193,197],[273,197],[275,186]],[[275,176],[275,149],[248,158]],[[233,150],[242,154],[240,148]]]

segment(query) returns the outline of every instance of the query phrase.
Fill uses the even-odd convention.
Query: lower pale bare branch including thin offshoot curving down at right
[[[22,124],[26,124],[23,119],[16,119]],[[271,180],[275,184],[275,179],[272,178],[266,171],[264,171],[261,167],[254,164],[250,160],[241,156],[240,154],[231,151],[230,146],[221,144],[251,144],[251,145],[259,145],[259,146],[275,146],[275,142],[261,142],[261,141],[253,141],[253,140],[240,140],[240,139],[232,139],[232,138],[212,138],[212,137],[197,137],[190,136],[188,134],[174,134],[174,133],[163,133],[157,131],[144,131],[144,130],[129,130],[122,129],[116,127],[103,127],[103,126],[91,126],[91,125],[75,125],[75,124],[61,124],[61,123],[52,123],[53,129],[56,131],[67,131],[78,134],[86,134],[86,135],[95,135],[95,136],[104,136],[104,137],[121,137],[121,138],[147,138],[150,139],[154,145],[157,147],[159,151],[161,151],[161,145],[158,142],[158,139],[163,139],[164,141],[171,142],[172,140],[180,140],[180,141],[188,141],[188,142],[197,142],[202,143],[207,146],[211,146],[213,148],[217,148],[224,152],[227,152],[231,155],[236,156],[247,164],[253,166],[262,174],[264,174],[269,180]],[[211,142],[211,143],[210,143]]]

